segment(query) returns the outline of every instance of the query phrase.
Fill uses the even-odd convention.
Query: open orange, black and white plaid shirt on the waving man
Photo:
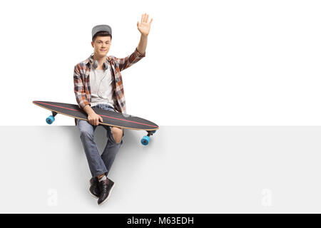
[[[116,58],[107,56],[107,61],[111,64],[111,76],[113,86],[114,108],[120,113],[126,113],[126,100],[123,93],[123,79],[121,71],[132,66],[145,57],[146,53],[139,53],[137,48],[126,58]],[[80,108],[84,108],[91,103],[91,85],[89,73],[91,72],[91,61],[88,57],[85,61],[78,63],[73,71],[73,86],[76,100]]]

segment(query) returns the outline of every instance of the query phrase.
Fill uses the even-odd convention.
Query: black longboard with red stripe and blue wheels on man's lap
[[[85,111],[79,108],[78,105],[40,100],[34,100],[32,103],[38,105],[41,108],[51,110],[52,115],[46,118],[46,123],[48,124],[54,123],[54,117],[57,114],[63,114],[79,120],[88,121],[87,113],[85,113]],[[156,123],[153,123],[143,118],[136,117],[134,115],[117,113],[111,110],[103,110],[101,108],[93,108],[93,110],[97,115],[100,115],[101,118],[103,118],[103,122],[99,122],[100,125],[127,128],[131,130],[146,130],[148,135],[145,135],[141,139],[141,143],[143,145],[148,145],[148,142],[150,140],[149,137],[156,133],[156,130],[159,129]]]

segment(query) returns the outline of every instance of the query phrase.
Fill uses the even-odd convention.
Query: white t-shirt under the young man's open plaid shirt
[[[111,67],[109,66],[106,71],[91,68],[89,80],[91,83],[91,107],[98,104],[113,106]]]

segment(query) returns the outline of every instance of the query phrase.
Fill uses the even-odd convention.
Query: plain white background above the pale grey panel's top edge
[[[73,66],[108,24],[127,112],[158,125],[320,125],[320,1],[1,1],[0,125],[46,125],[32,100],[76,103]],[[73,125],[63,116],[56,125]]]

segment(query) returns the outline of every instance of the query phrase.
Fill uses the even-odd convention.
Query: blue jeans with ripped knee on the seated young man
[[[98,104],[93,107],[115,111],[110,105]],[[107,176],[109,170],[111,170],[111,165],[113,165],[113,161],[115,160],[119,147],[123,144],[123,138],[121,139],[121,142],[116,143],[113,138],[113,133],[111,133],[111,127],[101,125],[107,130],[108,141],[103,153],[100,155],[96,142],[93,141],[93,132],[96,130],[97,126],[91,125],[86,120],[78,119],[77,126],[80,130],[81,142],[83,143],[83,150],[85,150],[86,153],[89,169],[91,170],[91,176],[97,177],[103,173]]]

